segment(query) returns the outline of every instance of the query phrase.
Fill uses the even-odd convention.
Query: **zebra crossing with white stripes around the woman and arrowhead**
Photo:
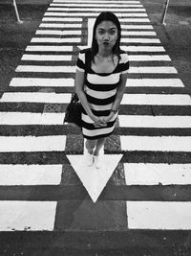
[[[123,230],[191,229],[191,99],[146,10],[138,0],[53,0],[0,99],[0,231],[56,231],[60,201],[83,198],[67,158],[83,139],[64,111],[77,53],[105,10],[119,18],[131,68],[105,146],[123,156],[100,201],[125,202]]]

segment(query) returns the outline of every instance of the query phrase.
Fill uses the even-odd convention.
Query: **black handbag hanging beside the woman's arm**
[[[75,126],[81,128],[81,112],[82,105],[79,102],[77,94],[74,93],[70,104],[66,108],[64,123],[74,124]]]

